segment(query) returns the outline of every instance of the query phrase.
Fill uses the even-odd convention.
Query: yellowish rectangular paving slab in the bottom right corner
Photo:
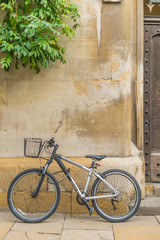
[[[160,226],[113,226],[115,240],[159,240]]]

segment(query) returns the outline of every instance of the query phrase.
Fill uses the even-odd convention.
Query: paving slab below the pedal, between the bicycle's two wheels
[[[64,229],[111,229],[110,222],[103,220],[99,216],[88,215],[67,215]]]

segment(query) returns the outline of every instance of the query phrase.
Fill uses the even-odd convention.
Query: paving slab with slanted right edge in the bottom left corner
[[[0,240],[10,231],[15,220],[14,216],[10,213],[0,213]]]

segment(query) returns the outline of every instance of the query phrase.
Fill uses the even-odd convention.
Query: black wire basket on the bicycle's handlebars
[[[24,139],[24,156],[38,158],[42,150],[42,139],[25,138]]]

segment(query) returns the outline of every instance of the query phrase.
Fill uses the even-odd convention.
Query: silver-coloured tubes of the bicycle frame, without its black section
[[[109,198],[109,197],[116,197],[117,194],[117,190],[114,189],[103,177],[101,177],[100,174],[96,173],[93,168],[88,168],[82,164],[79,164],[77,162],[74,162],[68,158],[65,158],[63,156],[60,156],[60,159],[70,163],[70,164],[73,164],[75,165],[76,167],[79,167],[79,168],[82,168],[84,169],[85,171],[88,171],[89,174],[88,174],[88,178],[87,178],[87,181],[86,181],[86,184],[85,184],[85,187],[84,187],[84,191],[83,191],[83,194],[81,193],[79,187],[77,186],[76,182],[74,181],[74,179],[71,177],[71,175],[69,174],[69,178],[70,178],[70,181],[72,183],[72,185],[74,186],[75,190],[78,192],[78,194],[80,195],[81,198],[85,198],[86,200],[93,200],[93,199],[98,199],[98,198]],[[92,174],[94,174],[97,178],[99,178],[104,184],[107,185],[107,187],[113,192],[113,194],[110,194],[110,195],[101,195],[101,196],[91,196],[91,197],[85,197],[85,193],[87,192],[87,189],[88,189],[88,185],[89,185],[89,182],[90,182],[90,179],[91,179],[91,176]]]

